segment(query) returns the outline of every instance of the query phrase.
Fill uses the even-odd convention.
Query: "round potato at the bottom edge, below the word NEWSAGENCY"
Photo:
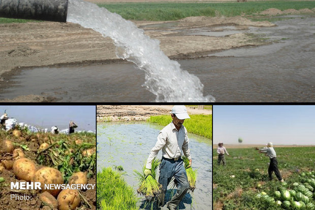
[[[57,201],[59,210],[76,209],[80,204],[80,196],[77,190],[65,189],[59,193]]]

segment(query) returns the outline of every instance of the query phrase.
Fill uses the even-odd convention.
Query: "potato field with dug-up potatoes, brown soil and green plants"
[[[0,209],[94,209],[93,190],[12,189],[10,183],[96,184],[96,135],[0,130]],[[14,199],[11,199],[14,195]],[[25,199],[25,198],[30,199]],[[18,198],[18,199],[17,199]]]

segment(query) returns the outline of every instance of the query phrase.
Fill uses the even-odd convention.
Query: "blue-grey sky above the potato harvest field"
[[[74,121],[76,130],[96,129],[95,106],[0,106],[0,115],[7,112],[9,118],[39,128],[51,129],[57,126],[59,130],[69,128],[70,120]]]

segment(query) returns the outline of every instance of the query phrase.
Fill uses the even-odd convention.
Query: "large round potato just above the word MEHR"
[[[13,164],[13,172],[20,180],[31,181],[37,170],[35,162],[27,158],[20,158]]]

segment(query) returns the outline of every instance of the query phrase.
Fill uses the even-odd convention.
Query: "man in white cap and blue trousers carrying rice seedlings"
[[[157,142],[150,151],[147,159],[145,175],[151,174],[152,160],[162,149],[162,161],[160,163],[159,183],[163,186],[163,191],[159,197],[161,209],[175,210],[179,202],[183,199],[189,189],[186,170],[183,165],[181,155],[185,155],[190,160],[189,167],[192,165],[191,152],[187,130],[183,126],[184,120],[190,118],[185,106],[174,106],[171,112],[173,121],[165,126],[157,135]],[[167,186],[174,177],[178,183],[177,192],[172,199],[164,205]]]

